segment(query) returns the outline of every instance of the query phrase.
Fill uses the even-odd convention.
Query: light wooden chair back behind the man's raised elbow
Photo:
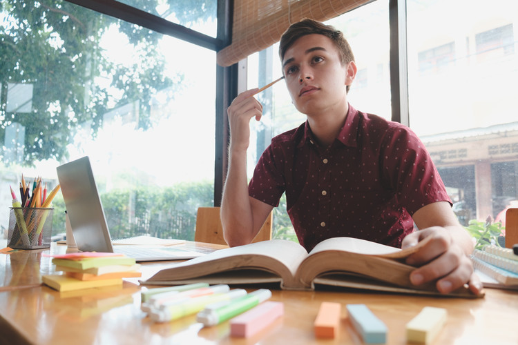
[[[267,241],[271,239],[273,212],[267,217],[265,224],[259,230],[252,242]],[[196,215],[196,230],[194,233],[196,242],[212,244],[227,244],[223,238],[223,226],[221,225],[219,207],[200,207]]]

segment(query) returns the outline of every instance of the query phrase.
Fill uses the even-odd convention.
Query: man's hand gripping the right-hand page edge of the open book
[[[459,229],[433,226],[416,231],[403,239],[402,248],[406,248],[416,245],[426,237],[432,237],[421,250],[406,259],[407,264],[419,267],[410,274],[412,284],[420,285],[437,279],[437,290],[450,293],[468,283],[472,293],[481,293],[482,284],[473,272],[472,262],[455,241],[456,230]]]

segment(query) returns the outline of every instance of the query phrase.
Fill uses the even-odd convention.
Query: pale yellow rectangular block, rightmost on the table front
[[[428,344],[443,328],[448,312],[444,308],[425,306],[406,327],[407,341]]]

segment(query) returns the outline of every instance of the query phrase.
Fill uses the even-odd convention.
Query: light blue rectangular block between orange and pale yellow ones
[[[365,304],[347,304],[347,313],[352,325],[366,344],[384,344],[387,326]]]

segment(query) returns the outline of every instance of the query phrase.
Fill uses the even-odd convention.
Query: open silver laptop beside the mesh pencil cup
[[[113,246],[88,156],[58,166],[56,170],[79,250],[122,253],[137,262],[192,259],[204,255],[175,246]]]

